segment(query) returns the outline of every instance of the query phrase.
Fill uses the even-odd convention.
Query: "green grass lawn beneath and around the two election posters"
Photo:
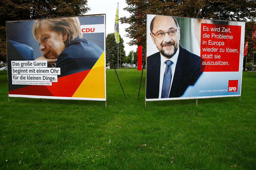
[[[105,101],[11,98],[0,72],[0,169],[255,169],[256,74],[242,96],[147,102],[145,70],[107,73]]]

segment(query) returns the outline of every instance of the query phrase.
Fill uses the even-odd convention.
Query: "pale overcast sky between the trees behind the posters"
[[[117,3],[119,3],[119,18],[124,16],[129,17],[131,14],[128,11],[123,10],[128,6],[125,3],[125,0],[88,0],[88,7],[91,8],[91,10],[85,13],[85,15],[106,14],[106,36],[109,33],[114,33]],[[129,24],[121,24],[119,22],[119,34],[124,39],[124,50],[126,55],[128,55],[132,49],[136,51],[137,48],[137,46],[129,46],[127,44],[127,42],[131,40],[125,36],[127,34],[125,28],[128,27]]]

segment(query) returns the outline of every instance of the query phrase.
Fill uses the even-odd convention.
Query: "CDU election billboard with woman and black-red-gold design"
[[[106,101],[105,18],[7,21],[9,97]]]

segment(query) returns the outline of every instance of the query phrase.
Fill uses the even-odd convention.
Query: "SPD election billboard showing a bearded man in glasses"
[[[146,101],[241,96],[244,29],[148,14]]]

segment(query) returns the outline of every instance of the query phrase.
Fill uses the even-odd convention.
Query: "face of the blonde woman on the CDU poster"
[[[65,30],[56,32],[51,29],[39,29],[38,42],[40,51],[48,58],[58,58],[60,53],[65,49],[64,42],[67,40],[67,32]]]

